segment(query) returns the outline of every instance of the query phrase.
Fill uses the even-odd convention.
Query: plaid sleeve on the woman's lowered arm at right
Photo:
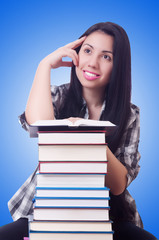
[[[131,105],[131,116],[115,156],[127,168],[127,186],[136,178],[140,170],[138,152],[140,137],[139,108]]]

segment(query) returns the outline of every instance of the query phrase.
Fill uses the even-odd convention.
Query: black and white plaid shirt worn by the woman
[[[63,84],[59,87],[51,86],[52,102],[54,107],[55,117],[57,116],[59,107],[63,101],[63,97],[66,96],[69,84]],[[105,108],[103,103],[101,115]],[[83,102],[83,108],[85,110],[84,118],[88,119],[88,108],[86,102]],[[25,119],[25,113],[19,116],[20,123],[25,130],[28,130],[28,124]],[[131,116],[128,124],[125,128],[125,133],[121,139],[120,147],[116,150],[115,156],[118,160],[127,168],[127,186],[136,178],[140,166],[139,159],[140,154],[138,152],[140,122],[139,122],[139,109],[137,106],[131,104]],[[36,172],[26,180],[26,182],[20,187],[20,189],[14,194],[14,196],[8,202],[8,207],[12,215],[13,220],[17,220],[21,217],[27,217],[30,220],[33,217],[33,202],[32,199],[35,195],[36,187]],[[111,194],[112,203],[110,200],[110,206],[112,211],[110,212],[110,218],[113,221],[121,218],[127,221],[134,222],[137,226],[143,227],[142,220],[136,209],[136,204],[132,196],[127,189],[119,196],[113,196]]]

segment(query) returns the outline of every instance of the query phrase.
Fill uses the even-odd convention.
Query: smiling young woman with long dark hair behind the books
[[[63,57],[70,57],[72,61],[63,61]],[[50,88],[51,69],[64,66],[72,68],[71,82]],[[36,120],[55,118],[109,120],[118,125],[116,132],[107,138],[109,174],[105,180],[110,188],[114,239],[156,239],[143,229],[135,201],[127,191],[140,169],[140,126],[139,109],[131,104],[129,39],[119,25],[95,24],[78,40],[57,49],[40,62],[20,122],[27,130],[28,124]],[[20,239],[28,235],[27,219],[33,214],[35,173],[9,201],[15,222],[1,228],[0,236],[3,237],[0,239],[4,236],[11,239],[10,235]]]

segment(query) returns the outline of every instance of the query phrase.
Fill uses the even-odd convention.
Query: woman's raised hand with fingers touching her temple
[[[78,65],[78,55],[75,48],[79,47],[84,40],[86,39],[86,36],[71,42],[64,47],[58,48],[56,51],[49,54],[47,57],[45,57],[42,62],[45,62],[50,65],[51,68],[59,68],[59,67],[72,67],[72,61],[75,66]],[[63,61],[63,57],[70,57],[72,61]]]

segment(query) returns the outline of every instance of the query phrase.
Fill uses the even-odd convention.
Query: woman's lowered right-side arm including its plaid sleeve
[[[108,174],[106,186],[114,195],[121,194],[139,173],[140,154],[138,152],[140,138],[139,108],[131,105],[131,116],[120,147],[113,154],[107,147]]]

